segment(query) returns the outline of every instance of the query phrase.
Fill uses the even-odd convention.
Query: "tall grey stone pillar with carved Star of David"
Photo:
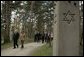
[[[53,56],[79,55],[79,1],[55,1]]]

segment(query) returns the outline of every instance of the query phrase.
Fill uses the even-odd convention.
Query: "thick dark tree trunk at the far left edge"
[[[11,1],[5,1],[3,9],[3,18],[6,20],[5,30],[4,30],[4,43],[10,42],[10,19],[11,19]]]

